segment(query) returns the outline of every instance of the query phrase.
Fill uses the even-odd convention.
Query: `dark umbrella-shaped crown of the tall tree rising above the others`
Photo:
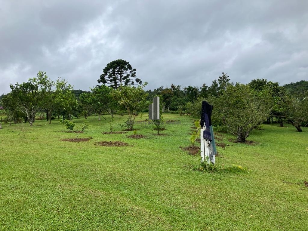
[[[110,87],[115,89],[120,86],[142,83],[140,79],[136,78],[136,69],[132,68],[132,65],[123,59],[117,59],[108,63],[97,82],[108,83]]]

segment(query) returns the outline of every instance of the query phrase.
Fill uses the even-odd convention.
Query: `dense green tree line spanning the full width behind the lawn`
[[[18,123],[21,119],[35,121],[37,113],[44,112],[51,123],[52,118],[128,113],[125,122],[133,129],[136,115],[146,111],[153,97],[160,96],[162,110],[200,117],[202,100],[214,105],[213,124],[245,142],[249,132],[273,118],[283,126],[292,124],[299,132],[308,121],[308,82],[300,81],[279,86],[266,79],[254,79],[249,84],[233,83],[226,73],[213,80],[210,86],[170,87],[144,91],[142,81],[136,78],[136,69],[125,60],[118,59],[107,64],[98,79],[99,85],[91,91],[73,90],[64,79],[51,81],[46,72],[24,83],[10,84],[11,92],[2,95],[0,106],[6,112],[6,120]],[[102,85],[100,85],[103,83]],[[137,84],[138,86],[134,86]],[[141,85],[142,84],[142,85]]]

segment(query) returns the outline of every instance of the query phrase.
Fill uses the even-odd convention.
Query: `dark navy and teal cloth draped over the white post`
[[[213,105],[209,104],[206,101],[202,101],[200,125],[201,128],[203,128],[205,124],[205,131],[203,132],[203,138],[211,141],[211,144],[213,146],[213,152],[216,154],[217,151],[216,151],[215,138],[211,120],[212,111],[213,111]]]

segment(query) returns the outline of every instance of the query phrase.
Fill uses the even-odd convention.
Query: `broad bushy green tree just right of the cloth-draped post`
[[[228,85],[219,97],[211,97],[209,103],[214,105],[212,123],[225,125],[238,142],[245,142],[249,132],[266,120],[274,101],[269,91],[237,83]]]

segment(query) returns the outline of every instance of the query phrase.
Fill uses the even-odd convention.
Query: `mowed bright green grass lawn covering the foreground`
[[[2,124],[0,230],[308,230],[308,128],[263,125],[248,137],[253,145],[216,132],[226,145],[217,147],[217,165],[248,172],[207,173],[179,148],[190,145],[192,118],[163,116],[180,122],[161,136],[136,124],[142,139],[102,134],[110,116],[91,116],[79,137],[92,139],[79,143],[62,141],[77,134],[58,120]],[[115,116],[114,131],[126,117]]]

